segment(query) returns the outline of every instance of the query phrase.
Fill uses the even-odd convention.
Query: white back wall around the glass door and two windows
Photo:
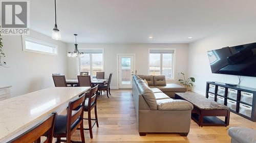
[[[112,88],[117,84],[117,53],[135,53],[135,66],[137,74],[148,74],[148,49],[150,48],[176,48],[176,79],[179,72],[187,73],[188,44],[78,44],[78,48],[104,48],[105,75],[113,73]],[[74,44],[68,44],[68,51],[74,50]],[[77,59],[68,58],[68,78],[77,76]],[[106,76],[108,77],[108,76]],[[172,82],[177,82],[172,81]]]

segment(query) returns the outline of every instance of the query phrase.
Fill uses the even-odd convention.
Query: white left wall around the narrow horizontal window
[[[34,31],[30,37],[58,45],[58,55],[25,52],[21,36],[2,36],[8,68],[0,67],[0,87],[12,85],[12,96],[52,87],[52,73],[67,74],[66,43]]]

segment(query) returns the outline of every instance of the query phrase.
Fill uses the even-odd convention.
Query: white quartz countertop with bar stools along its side
[[[89,89],[53,87],[0,101],[0,142],[42,120]]]

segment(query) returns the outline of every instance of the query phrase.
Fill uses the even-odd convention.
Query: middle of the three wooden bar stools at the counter
[[[78,142],[71,140],[71,135],[79,128],[81,142],[86,142],[83,132],[83,106],[86,95],[83,94],[77,99],[69,102],[67,115],[58,115],[55,120],[53,137],[57,138],[57,142]],[[66,137],[61,139],[61,137]]]

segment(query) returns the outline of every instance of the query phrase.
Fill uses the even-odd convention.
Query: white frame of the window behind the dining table
[[[79,48],[78,50],[102,50],[102,66],[103,66],[103,71],[105,71],[105,56],[104,56],[104,48]],[[90,73],[92,72],[91,66],[92,66],[92,53],[90,53]],[[80,57],[77,58],[77,75],[80,75],[81,71],[81,63],[80,63]]]

